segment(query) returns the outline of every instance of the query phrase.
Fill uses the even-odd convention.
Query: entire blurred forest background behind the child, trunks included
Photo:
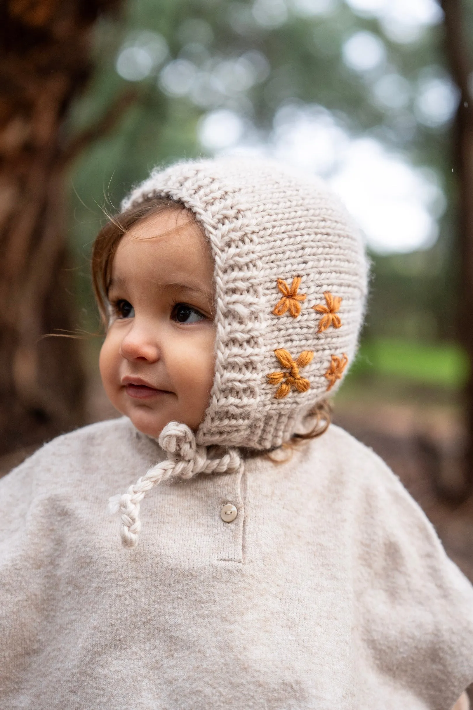
[[[369,310],[335,420],[411,483],[468,498],[472,4],[10,0],[1,13],[3,469],[113,415],[89,273],[106,213],[155,165],[236,151],[321,175],[365,233]]]

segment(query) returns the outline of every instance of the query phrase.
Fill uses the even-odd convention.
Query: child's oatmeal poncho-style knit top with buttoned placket
[[[160,456],[114,420],[0,481],[2,710],[450,710],[473,590],[372,451],[162,484],[125,550],[108,497]]]

